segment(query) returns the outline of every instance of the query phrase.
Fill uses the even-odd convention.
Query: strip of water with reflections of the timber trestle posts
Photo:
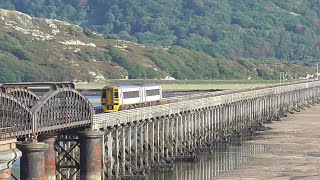
[[[212,153],[202,153],[196,163],[177,162],[171,173],[151,172],[149,180],[208,180],[237,169],[248,161],[252,161],[255,154],[268,151],[266,145],[225,145],[218,146]]]

